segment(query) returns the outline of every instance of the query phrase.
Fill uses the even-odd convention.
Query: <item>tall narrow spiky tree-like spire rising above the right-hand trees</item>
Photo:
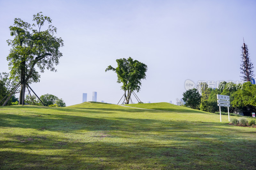
[[[249,56],[249,52],[248,52],[248,47],[247,45],[244,43],[242,46],[242,60],[241,60],[241,64],[240,64],[240,69],[241,69],[241,74],[242,76],[241,79],[244,81],[251,81],[252,78],[254,77],[253,74],[253,64],[250,60],[250,56]]]

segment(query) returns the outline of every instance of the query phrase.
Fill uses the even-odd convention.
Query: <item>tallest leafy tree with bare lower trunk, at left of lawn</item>
[[[59,48],[63,46],[63,41],[54,36],[57,28],[51,25],[51,18],[39,12],[33,15],[33,22],[30,25],[15,18],[14,26],[9,27],[14,38],[7,40],[8,45],[12,46],[7,61],[11,78],[21,82],[19,104],[24,104],[26,84],[40,81],[35,66],[42,73],[45,68],[56,71],[54,65],[59,64],[62,56]]]

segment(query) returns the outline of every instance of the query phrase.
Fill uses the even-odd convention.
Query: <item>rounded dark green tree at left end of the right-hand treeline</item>
[[[198,109],[201,101],[201,95],[196,88],[193,88],[183,92],[182,99],[186,102],[185,106],[191,107],[192,109]]]

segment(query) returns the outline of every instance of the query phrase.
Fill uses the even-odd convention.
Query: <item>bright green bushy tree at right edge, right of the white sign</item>
[[[233,100],[231,100],[233,107],[240,109],[247,107],[256,112],[256,85],[252,85],[251,82],[246,82],[243,84],[242,89],[233,92],[231,96],[233,98]]]

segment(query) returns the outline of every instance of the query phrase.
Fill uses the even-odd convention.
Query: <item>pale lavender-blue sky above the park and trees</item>
[[[30,85],[38,96],[53,94],[70,106],[82,103],[82,93],[92,101],[95,91],[97,101],[117,104],[124,92],[116,73],[105,69],[132,57],[148,66],[136,93],[140,100],[175,104],[188,79],[195,85],[241,81],[243,38],[255,65],[255,9],[256,2],[246,0],[0,0],[0,72],[10,71],[6,40],[13,38],[14,18],[32,24],[33,15],[42,11],[64,47],[57,72],[45,70],[40,82]]]

